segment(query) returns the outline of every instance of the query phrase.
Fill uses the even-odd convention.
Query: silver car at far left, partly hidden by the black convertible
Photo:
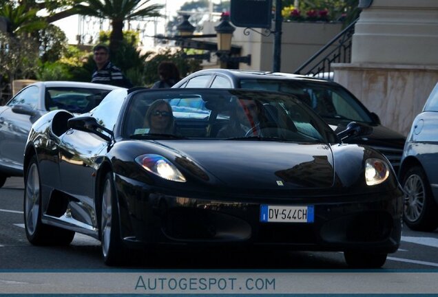
[[[65,81],[33,83],[0,107],[0,187],[7,177],[23,175],[25,142],[32,124],[55,109],[90,111],[113,89],[112,85]]]

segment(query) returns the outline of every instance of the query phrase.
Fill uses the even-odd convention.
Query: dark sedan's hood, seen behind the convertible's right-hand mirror
[[[346,126],[351,121],[336,121],[336,120],[328,120],[324,119],[328,122],[328,125],[335,131],[339,133],[346,129]],[[360,137],[353,137],[347,140],[347,143],[351,144],[366,144],[368,146],[373,147],[386,147],[386,148],[395,148],[403,151],[404,142],[406,141],[406,137],[401,135],[400,133],[393,131],[391,129],[386,128],[386,126],[382,126],[381,124],[371,125],[361,122],[365,126],[370,126],[373,129],[373,132],[369,135],[364,135]]]

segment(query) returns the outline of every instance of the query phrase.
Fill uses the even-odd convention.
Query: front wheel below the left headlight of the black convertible
[[[101,246],[106,265],[121,265],[125,247],[121,239],[116,190],[112,173],[107,173],[101,197]]]

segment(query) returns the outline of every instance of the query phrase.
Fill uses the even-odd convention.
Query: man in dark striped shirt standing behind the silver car
[[[96,69],[94,69],[92,75],[92,83],[116,85],[125,88],[132,87],[132,83],[123,75],[121,69],[110,62],[110,50],[108,47],[105,45],[96,45],[93,49],[93,53]]]

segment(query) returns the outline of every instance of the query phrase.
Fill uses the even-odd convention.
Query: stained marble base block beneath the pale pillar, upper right
[[[438,66],[335,64],[335,80],[349,89],[384,126],[407,135],[438,83]]]

